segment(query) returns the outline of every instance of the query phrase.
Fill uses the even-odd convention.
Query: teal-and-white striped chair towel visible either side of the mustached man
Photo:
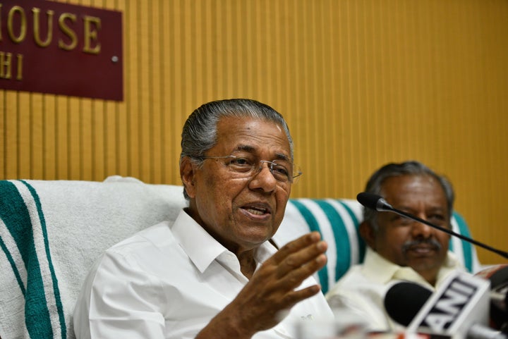
[[[317,273],[323,292],[341,278],[353,264],[363,261],[365,243],[358,233],[362,206],[353,199],[290,199],[286,216],[274,240],[279,245],[317,230],[328,243],[327,265]],[[464,218],[454,212],[454,232],[470,237]],[[475,248],[464,240],[452,237],[449,248],[468,269],[480,268]]]

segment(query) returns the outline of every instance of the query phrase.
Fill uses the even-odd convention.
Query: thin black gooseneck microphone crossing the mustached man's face
[[[471,242],[471,244],[478,245],[480,247],[488,249],[489,251],[499,254],[500,256],[508,259],[508,252],[504,252],[500,249],[490,247],[489,245],[485,245],[483,242],[479,242],[477,240],[468,238],[465,235],[455,233],[453,230],[450,230],[449,228],[437,226],[433,223],[430,223],[429,221],[423,220],[422,218],[418,218],[418,216],[413,216],[413,214],[406,213],[406,212],[401,211],[399,209],[394,209],[392,207],[392,205],[388,204],[387,201],[385,199],[383,199],[380,195],[375,195],[373,193],[367,193],[367,192],[361,192],[361,193],[358,193],[358,195],[356,196],[356,200],[358,200],[358,202],[360,204],[362,204],[364,207],[367,207],[368,209],[372,209],[374,211],[380,211],[380,212],[394,212],[394,213],[399,214],[401,216],[405,216],[406,218],[410,218],[414,221],[418,221],[419,223],[425,223],[425,225],[436,228],[437,230],[441,230],[444,233],[448,233],[449,235],[453,235],[454,237],[460,238],[462,240],[466,240],[467,242]]]

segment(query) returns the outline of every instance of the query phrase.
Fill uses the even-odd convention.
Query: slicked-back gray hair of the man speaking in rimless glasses
[[[294,159],[293,139],[279,112],[253,99],[224,99],[203,104],[188,116],[181,134],[180,161],[188,156],[195,164],[202,164],[200,158],[217,143],[217,123],[225,117],[255,118],[281,126],[289,140],[291,160]],[[188,199],[185,190],[183,195]]]

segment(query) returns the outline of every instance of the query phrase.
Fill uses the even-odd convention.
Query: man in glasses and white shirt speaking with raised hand
[[[327,244],[277,231],[301,175],[284,118],[250,99],[212,101],[187,119],[180,173],[188,207],[111,247],[74,312],[82,338],[296,338],[331,321],[313,273]]]

